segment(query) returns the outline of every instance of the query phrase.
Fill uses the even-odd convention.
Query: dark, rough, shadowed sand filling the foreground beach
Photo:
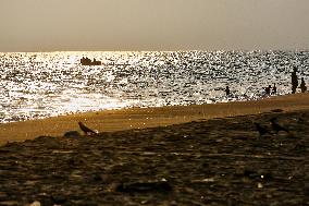
[[[308,109],[9,143],[0,205],[308,205]]]

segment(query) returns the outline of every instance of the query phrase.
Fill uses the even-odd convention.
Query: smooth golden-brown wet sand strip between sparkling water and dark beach
[[[77,122],[98,132],[115,132],[180,124],[190,121],[271,112],[274,109],[296,111],[309,109],[309,93],[274,96],[250,101],[209,105],[168,106],[103,110],[0,124],[0,146],[8,142],[37,136],[62,136],[67,131],[81,132]]]

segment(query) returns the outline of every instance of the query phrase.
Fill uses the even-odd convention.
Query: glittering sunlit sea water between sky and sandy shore
[[[82,65],[82,57],[102,65]],[[293,66],[308,85],[309,51],[2,52],[0,122],[259,99],[273,83],[284,95]]]

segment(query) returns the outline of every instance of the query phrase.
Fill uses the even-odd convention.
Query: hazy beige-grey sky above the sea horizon
[[[309,49],[309,0],[0,0],[0,51]]]

